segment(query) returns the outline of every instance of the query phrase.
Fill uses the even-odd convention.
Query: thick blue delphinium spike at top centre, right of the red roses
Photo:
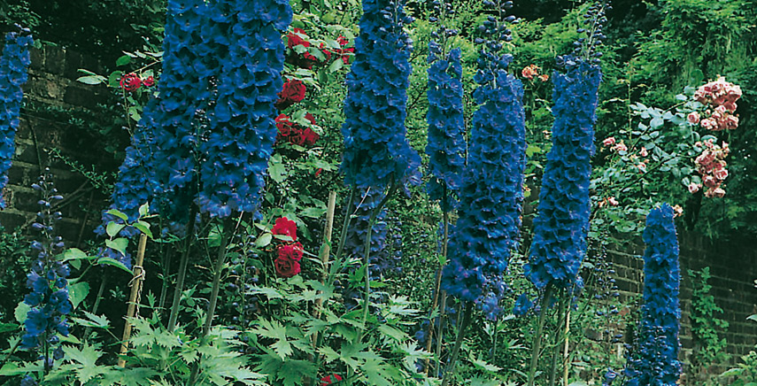
[[[406,140],[412,44],[403,26],[405,0],[364,0],[355,60],[347,75],[342,126],[344,182],[386,187],[421,163]]]

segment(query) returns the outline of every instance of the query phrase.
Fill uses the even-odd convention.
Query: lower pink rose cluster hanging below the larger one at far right
[[[699,154],[694,160],[697,166],[697,172],[702,176],[702,184],[691,182],[689,184],[689,192],[696,193],[704,185],[707,190],[705,191],[705,197],[723,197],[725,196],[725,190],[722,189],[722,182],[728,177],[728,169],[726,169],[725,158],[728,157],[730,149],[728,143],[722,143],[722,146],[713,143],[713,141],[705,141],[704,143],[696,143],[697,147],[704,147],[702,153]]]

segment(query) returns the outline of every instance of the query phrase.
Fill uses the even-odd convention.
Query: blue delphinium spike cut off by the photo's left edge
[[[13,153],[16,150],[16,130],[19,129],[19,112],[24,92],[21,85],[27,82],[27,67],[29,47],[32,37],[28,29],[21,29],[19,33],[11,32],[5,35],[3,55],[0,57],[0,190],[8,183],[8,169],[11,168]],[[0,195],[0,209],[5,207],[5,201]]]

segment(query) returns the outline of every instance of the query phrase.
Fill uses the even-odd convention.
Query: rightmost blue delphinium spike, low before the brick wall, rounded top
[[[629,360],[627,386],[673,386],[681,374],[678,361],[678,240],[673,208],[662,205],[646,217],[644,230],[644,305],[637,352]]]

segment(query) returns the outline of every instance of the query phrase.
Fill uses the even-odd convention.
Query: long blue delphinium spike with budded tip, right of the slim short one
[[[486,41],[478,60],[474,93],[481,107],[474,113],[467,168],[460,189],[460,219],[452,228],[450,262],[442,272],[442,289],[474,301],[496,317],[510,252],[521,227],[523,170],[526,164],[523,85],[506,73],[510,55],[498,55],[509,40],[503,23],[512,2],[487,2],[498,18],[484,22]],[[514,21],[514,17],[504,20]]]

